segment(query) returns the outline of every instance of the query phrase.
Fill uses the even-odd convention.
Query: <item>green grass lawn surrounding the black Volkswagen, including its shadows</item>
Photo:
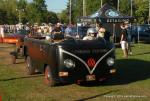
[[[2,101],[150,101],[150,44],[132,45],[124,59],[116,49],[117,74],[105,83],[48,87],[43,75],[27,75],[23,59],[10,63],[12,45],[0,44]]]

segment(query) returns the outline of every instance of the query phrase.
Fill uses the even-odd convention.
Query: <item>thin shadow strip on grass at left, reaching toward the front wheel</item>
[[[8,79],[0,79],[0,82],[1,81],[12,81],[12,80],[17,80],[17,79],[35,78],[35,77],[40,77],[40,76],[43,76],[43,74],[22,76],[22,77],[14,77],[14,78],[8,78]]]

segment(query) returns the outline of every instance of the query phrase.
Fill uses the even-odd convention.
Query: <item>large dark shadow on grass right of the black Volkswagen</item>
[[[106,85],[122,85],[150,78],[150,62],[137,59],[116,61],[117,73]]]

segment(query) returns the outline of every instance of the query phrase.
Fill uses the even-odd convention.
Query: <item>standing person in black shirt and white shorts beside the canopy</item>
[[[121,39],[120,39],[121,48],[123,50],[124,57],[128,58],[128,33],[125,23],[122,23],[120,27],[121,27]]]

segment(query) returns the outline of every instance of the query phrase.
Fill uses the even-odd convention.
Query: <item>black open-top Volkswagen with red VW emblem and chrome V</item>
[[[103,81],[116,72],[114,44],[102,38],[67,38],[49,42],[25,38],[24,55],[29,74],[44,73],[49,86],[82,81]]]

